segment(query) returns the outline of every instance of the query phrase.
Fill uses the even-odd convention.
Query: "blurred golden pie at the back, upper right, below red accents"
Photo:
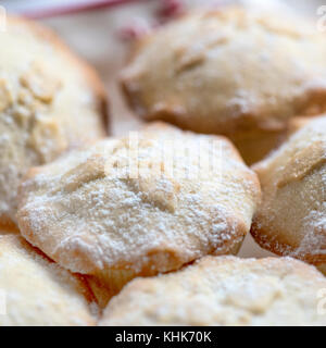
[[[292,116],[326,110],[325,55],[314,23],[226,7],[146,36],[122,84],[145,120],[224,134],[253,163],[284,140]]]

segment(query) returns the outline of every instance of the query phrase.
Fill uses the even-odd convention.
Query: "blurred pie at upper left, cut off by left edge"
[[[0,33],[0,225],[14,227],[28,167],[106,134],[96,73],[49,29],[9,17]]]

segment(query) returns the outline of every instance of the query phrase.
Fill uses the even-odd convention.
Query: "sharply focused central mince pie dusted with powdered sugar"
[[[32,169],[20,198],[27,240],[116,293],[136,274],[236,252],[260,186],[226,138],[153,124]]]

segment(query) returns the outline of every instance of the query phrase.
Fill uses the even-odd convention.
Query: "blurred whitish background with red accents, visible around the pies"
[[[276,15],[290,11],[317,22],[317,9],[326,0],[0,0],[8,13],[24,15],[53,28],[68,46],[92,64],[105,84],[110,100],[111,133],[124,134],[141,124],[126,107],[117,77],[133,41],[192,8],[218,8],[229,3]],[[326,34],[325,34],[326,35]],[[250,236],[242,257],[268,256]]]

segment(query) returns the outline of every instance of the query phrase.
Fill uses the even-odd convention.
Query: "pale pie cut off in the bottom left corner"
[[[0,235],[0,326],[95,325],[91,291],[17,235]]]

